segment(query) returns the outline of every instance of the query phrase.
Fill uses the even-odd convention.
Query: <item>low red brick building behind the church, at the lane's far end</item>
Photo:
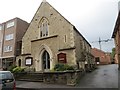
[[[110,53],[106,53],[97,48],[93,48],[92,54],[94,55],[95,61],[98,62],[98,64],[110,64],[111,63]]]

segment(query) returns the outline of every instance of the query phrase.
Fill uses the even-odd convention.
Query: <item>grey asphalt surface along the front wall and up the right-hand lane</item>
[[[79,83],[73,86],[45,84],[40,82],[17,81],[18,88],[118,88],[118,67],[116,64],[98,66],[93,72],[86,73]]]

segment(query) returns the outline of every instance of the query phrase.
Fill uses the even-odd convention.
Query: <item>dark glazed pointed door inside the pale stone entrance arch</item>
[[[42,65],[44,70],[50,69],[50,55],[46,50],[42,54]]]

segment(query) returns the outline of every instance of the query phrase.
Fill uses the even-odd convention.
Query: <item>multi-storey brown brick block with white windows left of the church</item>
[[[15,64],[28,26],[29,23],[17,17],[0,24],[0,68]]]

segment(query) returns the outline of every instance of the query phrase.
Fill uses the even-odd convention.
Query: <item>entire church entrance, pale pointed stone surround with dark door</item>
[[[41,45],[35,54],[36,71],[50,71],[53,68],[53,54],[47,45]]]

